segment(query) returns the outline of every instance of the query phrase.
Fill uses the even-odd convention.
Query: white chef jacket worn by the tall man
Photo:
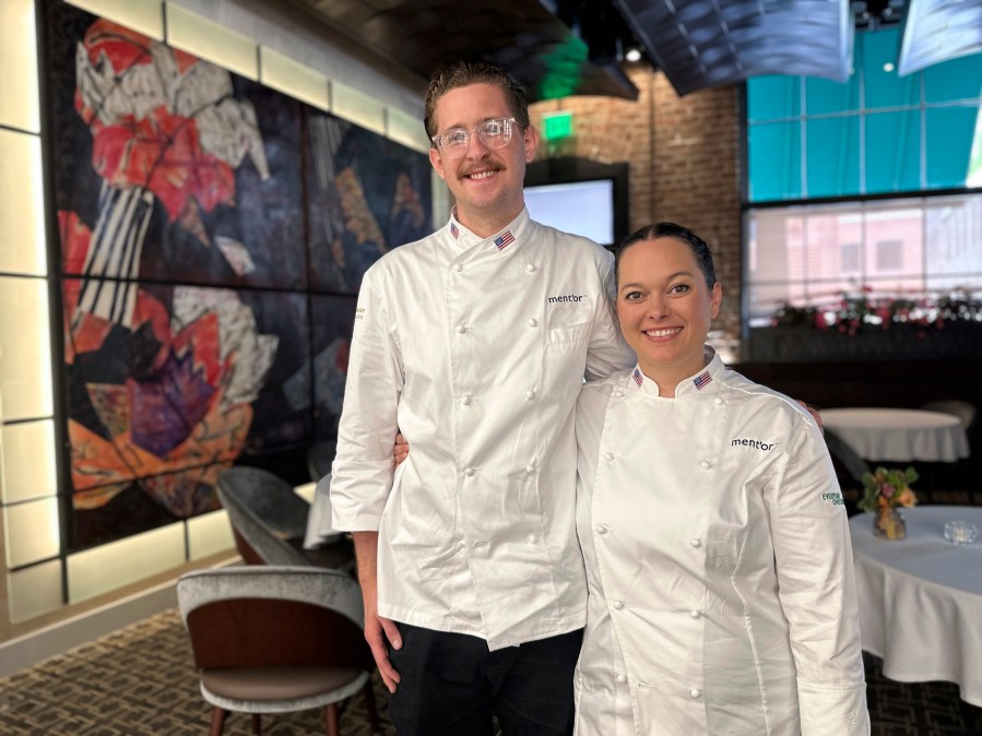
[[[365,274],[331,499],[336,529],[379,531],[379,615],[493,650],[583,626],[573,409],[584,373],[634,363],[613,290],[607,251],[524,210]]]

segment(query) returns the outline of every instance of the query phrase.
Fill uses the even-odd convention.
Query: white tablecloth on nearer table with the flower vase
[[[982,707],[982,538],[955,545],[946,521],[973,522],[982,507],[904,509],[907,538],[873,536],[873,514],[849,520],[863,649],[901,682],[947,680]]]

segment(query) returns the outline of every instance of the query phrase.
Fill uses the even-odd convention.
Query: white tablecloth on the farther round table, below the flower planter
[[[954,463],[969,456],[958,417],[911,408],[827,408],[821,424],[861,458]]]

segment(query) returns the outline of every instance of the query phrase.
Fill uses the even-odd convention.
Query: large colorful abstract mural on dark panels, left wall
[[[431,232],[424,154],[47,4],[69,549],[305,479],[336,432],[362,274]],[[285,468],[285,472],[284,472]]]

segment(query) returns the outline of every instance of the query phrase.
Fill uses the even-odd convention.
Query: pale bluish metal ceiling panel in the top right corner
[[[898,73],[982,51],[982,0],[911,0]]]

